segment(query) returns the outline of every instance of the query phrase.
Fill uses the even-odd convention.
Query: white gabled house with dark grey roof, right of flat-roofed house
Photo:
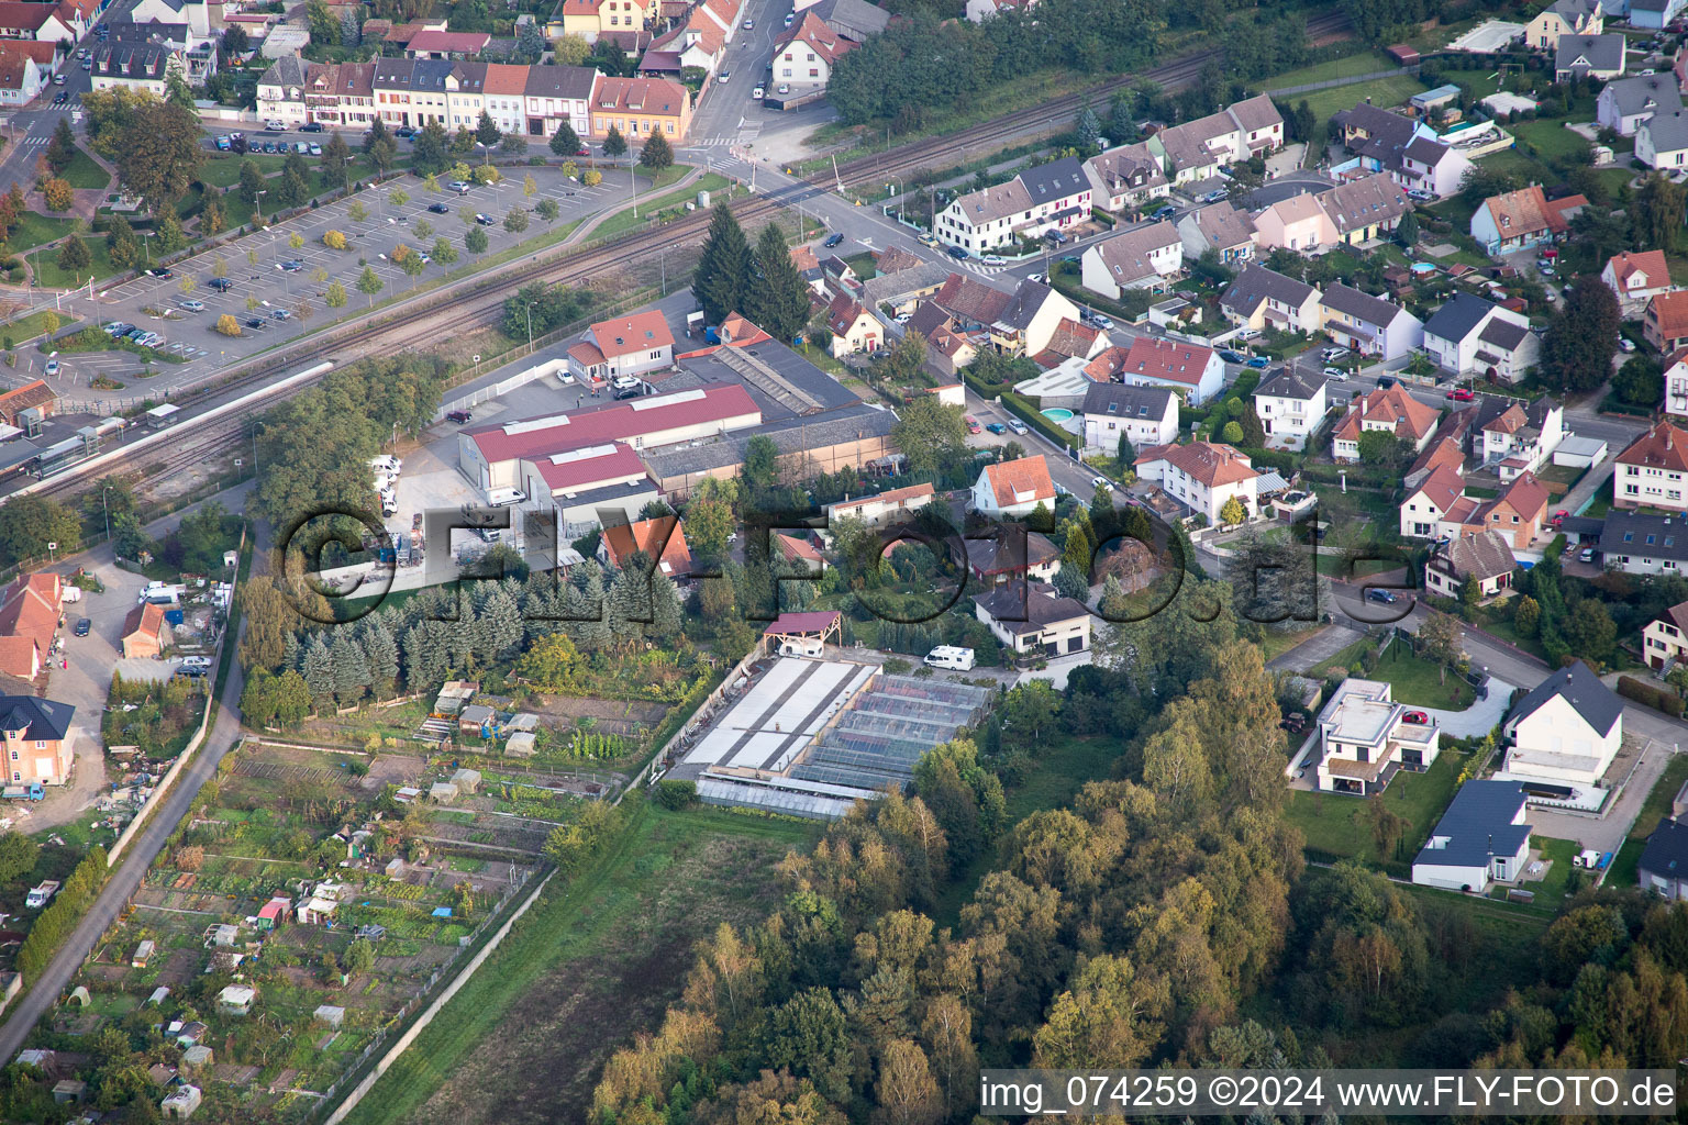
[[[1507,774],[1597,784],[1624,746],[1624,702],[1575,659],[1518,700],[1501,730]]]

